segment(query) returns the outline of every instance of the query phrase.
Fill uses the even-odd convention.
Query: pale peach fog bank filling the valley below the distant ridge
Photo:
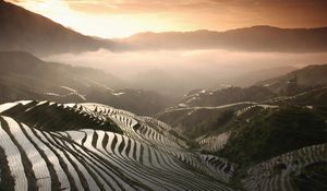
[[[226,50],[112,52],[100,49],[80,55],[55,55],[43,59],[100,69],[125,81],[129,87],[181,95],[193,88],[220,88],[232,79],[256,70],[327,63],[327,53]],[[249,85],[251,83],[254,82],[249,82]]]

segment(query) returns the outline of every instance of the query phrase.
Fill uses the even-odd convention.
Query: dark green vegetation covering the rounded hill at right
[[[239,122],[220,155],[243,167],[307,145],[327,142],[326,122],[301,107],[266,110]]]

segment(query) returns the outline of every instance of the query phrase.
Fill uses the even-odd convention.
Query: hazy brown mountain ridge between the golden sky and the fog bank
[[[225,32],[145,32],[128,38],[101,39],[82,35],[40,14],[0,1],[0,50],[37,56],[64,52],[129,50],[225,49],[258,52],[326,52],[327,27],[280,28],[269,25]]]

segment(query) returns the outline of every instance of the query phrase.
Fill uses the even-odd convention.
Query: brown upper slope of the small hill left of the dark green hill
[[[170,108],[156,115],[189,139],[223,133],[229,130],[234,112],[253,103],[235,103],[217,107]]]

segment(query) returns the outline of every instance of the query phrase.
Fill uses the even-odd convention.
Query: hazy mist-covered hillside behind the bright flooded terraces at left
[[[100,70],[45,62],[27,52],[0,52],[0,103],[96,102],[149,115],[170,102],[155,92],[125,88],[126,83]]]

